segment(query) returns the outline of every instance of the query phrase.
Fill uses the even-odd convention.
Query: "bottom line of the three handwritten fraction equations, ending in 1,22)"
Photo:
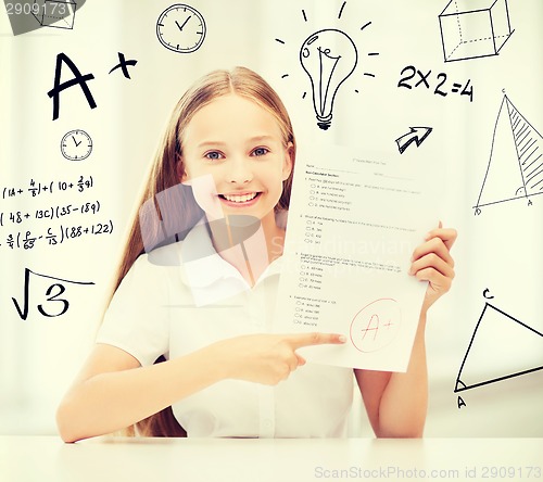
[[[46,234],[34,234],[30,230],[20,231],[8,234],[5,242],[1,246],[8,246],[12,250],[23,249],[31,250],[38,242],[47,242],[48,245],[63,244],[66,241],[74,239],[97,236],[97,234],[113,234],[113,221],[111,219],[104,223],[94,223],[91,225],[79,226],[63,226],[60,225],[56,229],[49,227]]]

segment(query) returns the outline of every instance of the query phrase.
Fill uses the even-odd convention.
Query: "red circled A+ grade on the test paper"
[[[351,341],[361,352],[377,352],[394,340],[401,319],[400,305],[395,300],[376,300],[364,306],[353,318]]]

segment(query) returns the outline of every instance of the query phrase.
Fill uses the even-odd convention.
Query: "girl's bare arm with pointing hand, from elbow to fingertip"
[[[220,380],[275,385],[305,364],[298,348],[341,343],[338,333],[247,334],[144,368],[121,348],[98,346],[59,407],[59,431],[66,442],[111,433]]]

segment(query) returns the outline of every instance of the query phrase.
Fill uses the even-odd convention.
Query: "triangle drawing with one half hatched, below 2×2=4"
[[[490,160],[475,205],[481,207],[543,194],[543,137],[504,96]]]

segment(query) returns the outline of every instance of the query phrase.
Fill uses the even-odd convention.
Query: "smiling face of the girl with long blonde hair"
[[[293,148],[272,113],[241,96],[223,96],[194,114],[181,141],[181,181],[192,185],[209,217],[217,217],[218,206],[223,215],[274,215]],[[200,181],[205,178],[213,182]]]

